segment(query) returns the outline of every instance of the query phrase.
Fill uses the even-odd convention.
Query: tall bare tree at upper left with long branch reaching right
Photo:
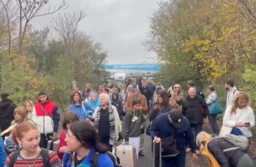
[[[35,18],[45,15],[50,15],[56,13],[57,11],[64,10],[68,7],[65,0],[62,0],[62,3],[59,7],[51,9],[51,6],[48,9],[48,12],[39,14],[39,11],[48,3],[48,0],[16,0],[19,7],[19,53],[22,52],[22,42],[26,33],[27,26],[29,22]],[[22,27],[24,21],[24,27]]]

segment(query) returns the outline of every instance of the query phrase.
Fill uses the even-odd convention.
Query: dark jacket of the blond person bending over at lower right
[[[216,158],[222,167],[236,167],[239,160],[246,154],[241,149],[223,152],[224,149],[235,147],[231,142],[223,139],[212,139],[208,143],[210,153]]]

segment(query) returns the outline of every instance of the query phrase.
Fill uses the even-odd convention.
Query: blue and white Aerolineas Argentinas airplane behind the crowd
[[[156,77],[160,72],[159,64],[120,64],[105,65],[105,70],[109,72],[105,79],[115,81],[125,81],[126,78],[134,77]]]

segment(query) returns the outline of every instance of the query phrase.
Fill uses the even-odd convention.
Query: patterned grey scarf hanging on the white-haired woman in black
[[[98,122],[100,118],[100,110],[101,106],[95,111],[95,122],[94,127],[96,128],[96,132],[98,133]],[[110,137],[109,137],[109,144],[110,145],[117,145],[117,137],[116,137],[116,126],[115,126],[115,116],[114,110],[112,105],[108,105],[108,113],[109,113],[109,123],[110,123]]]

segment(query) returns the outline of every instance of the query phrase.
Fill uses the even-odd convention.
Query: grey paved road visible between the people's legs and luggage
[[[210,133],[211,130],[207,126],[203,126],[203,130]],[[153,154],[151,152],[151,138],[145,134],[144,141],[144,157],[139,156],[138,167],[153,167]],[[191,153],[187,154],[186,167],[208,167],[207,159],[203,156],[199,156],[199,163],[194,164],[192,162]]]

